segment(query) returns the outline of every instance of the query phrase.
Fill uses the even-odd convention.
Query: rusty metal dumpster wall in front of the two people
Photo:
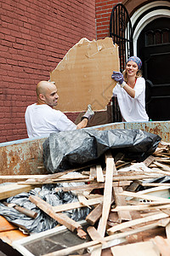
[[[112,123],[86,129],[141,129],[170,141],[170,121],[144,123]],[[0,143],[0,175],[46,174],[43,168],[42,143],[46,137]],[[0,180],[1,182],[1,180]]]

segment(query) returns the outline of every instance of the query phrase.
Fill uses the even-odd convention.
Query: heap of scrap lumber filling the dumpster
[[[77,176],[77,172],[79,172]],[[68,176],[67,174],[70,173]],[[82,186],[56,187],[56,192],[74,191],[79,201],[53,207],[36,195],[30,201],[51,218],[85,241],[46,256],[72,255],[84,249],[84,255],[169,255],[170,249],[170,143],[159,143],[156,151],[140,163],[127,160],[122,153],[113,158],[105,154],[105,167],[86,166],[42,177],[30,176],[15,184],[23,189],[47,183],[79,183]],[[167,177],[167,179],[165,178]],[[166,182],[167,181],[167,182]],[[161,183],[162,182],[162,183]],[[12,188],[1,200],[12,195]],[[14,187],[14,193],[16,188]],[[15,194],[14,194],[15,195]],[[88,207],[87,231],[65,211]],[[86,233],[87,232],[87,233]],[[138,248],[138,249],[137,249]],[[140,254],[139,254],[140,251]],[[82,255],[82,253],[81,253]]]

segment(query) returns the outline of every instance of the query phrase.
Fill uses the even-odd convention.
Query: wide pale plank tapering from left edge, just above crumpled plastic
[[[6,199],[10,196],[18,195],[22,192],[29,192],[31,189],[35,189],[34,185],[19,185],[18,183],[10,183],[1,186],[0,200]]]

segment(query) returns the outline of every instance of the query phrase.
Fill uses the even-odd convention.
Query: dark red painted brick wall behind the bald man
[[[96,38],[95,0],[1,0],[0,143],[26,138],[24,114],[81,38]]]

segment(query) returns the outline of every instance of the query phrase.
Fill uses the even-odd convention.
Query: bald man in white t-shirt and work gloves
[[[41,81],[37,84],[37,103],[26,108],[25,119],[28,137],[48,136],[52,132],[72,131],[88,125],[88,119],[94,115],[91,107],[82,116],[82,121],[75,125],[65,113],[54,109],[59,96],[54,83]]]

